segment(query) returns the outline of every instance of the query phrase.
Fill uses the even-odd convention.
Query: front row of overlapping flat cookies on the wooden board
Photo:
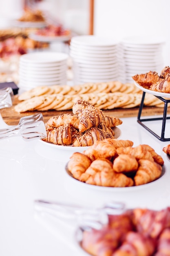
[[[134,108],[141,103],[142,93],[86,93],[77,95],[63,94],[44,94],[26,99],[18,103],[14,110],[16,112],[26,112],[31,110],[70,110],[77,100],[83,99],[88,101],[92,106],[103,110],[114,108]],[[160,99],[152,94],[146,94],[144,100],[145,106],[163,107]]]

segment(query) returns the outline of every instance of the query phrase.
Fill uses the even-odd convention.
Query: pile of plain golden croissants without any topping
[[[158,179],[162,157],[149,145],[132,146],[129,140],[96,141],[84,152],[73,153],[67,171],[75,179],[97,186],[139,186]]]

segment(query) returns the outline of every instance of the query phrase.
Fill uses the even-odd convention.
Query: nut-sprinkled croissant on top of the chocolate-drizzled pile
[[[92,127],[98,126],[102,122],[103,112],[98,108],[93,107],[87,101],[77,101],[73,106],[73,113],[79,119],[79,132],[84,132]],[[79,102],[83,102],[79,104]],[[77,108],[81,106],[81,108]]]

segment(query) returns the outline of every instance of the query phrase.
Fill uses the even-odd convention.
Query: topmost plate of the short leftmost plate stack
[[[58,63],[66,61],[68,54],[62,52],[32,52],[20,56],[20,61],[25,63]]]

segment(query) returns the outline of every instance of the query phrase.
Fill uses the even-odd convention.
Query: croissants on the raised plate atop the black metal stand
[[[160,75],[157,72],[148,72],[146,74],[136,74],[132,79],[142,87],[155,91],[170,93],[170,67],[166,66],[161,70]]]

